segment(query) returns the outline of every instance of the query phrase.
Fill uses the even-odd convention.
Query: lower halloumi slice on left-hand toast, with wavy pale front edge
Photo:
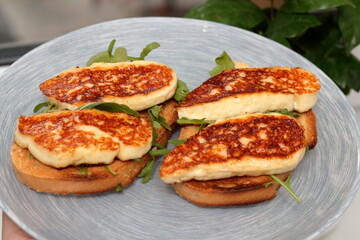
[[[15,142],[56,168],[142,157],[151,147],[149,120],[95,109],[20,116]]]

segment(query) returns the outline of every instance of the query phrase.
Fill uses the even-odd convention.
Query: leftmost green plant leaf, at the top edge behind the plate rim
[[[250,0],[208,0],[191,9],[185,17],[209,20],[251,29],[266,19],[261,9]]]

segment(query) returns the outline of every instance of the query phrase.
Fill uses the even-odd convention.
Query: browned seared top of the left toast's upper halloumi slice
[[[103,98],[147,95],[164,88],[173,70],[163,64],[126,64],[112,68],[83,67],[40,84],[44,95],[64,103],[100,102]]]

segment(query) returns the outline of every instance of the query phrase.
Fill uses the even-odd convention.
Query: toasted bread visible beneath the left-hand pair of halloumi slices
[[[176,105],[175,101],[170,100],[163,104],[160,112],[173,130],[176,128]],[[172,131],[165,128],[159,128],[156,131],[157,142],[166,145]],[[16,143],[11,149],[11,159],[12,167],[19,180],[38,192],[89,194],[105,192],[116,188],[119,184],[123,187],[129,185],[151,157],[146,154],[140,158],[140,161],[114,160],[106,166],[116,175],[107,170],[104,165],[86,166],[87,175],[82,174],[73,166],[50,167],[32,157],[27,149],[20,148]]]

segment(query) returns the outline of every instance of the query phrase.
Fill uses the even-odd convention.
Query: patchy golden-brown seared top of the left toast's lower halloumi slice
[[[79,147],[92,146],[100,151],[115,151],[120,142],[127,146],[141,146],[151,139],[151,125],[147,118],[94,109],[20,116],[18,130],[50,152],[68,154]],[[96,136],[94,130],[103,134]]]

